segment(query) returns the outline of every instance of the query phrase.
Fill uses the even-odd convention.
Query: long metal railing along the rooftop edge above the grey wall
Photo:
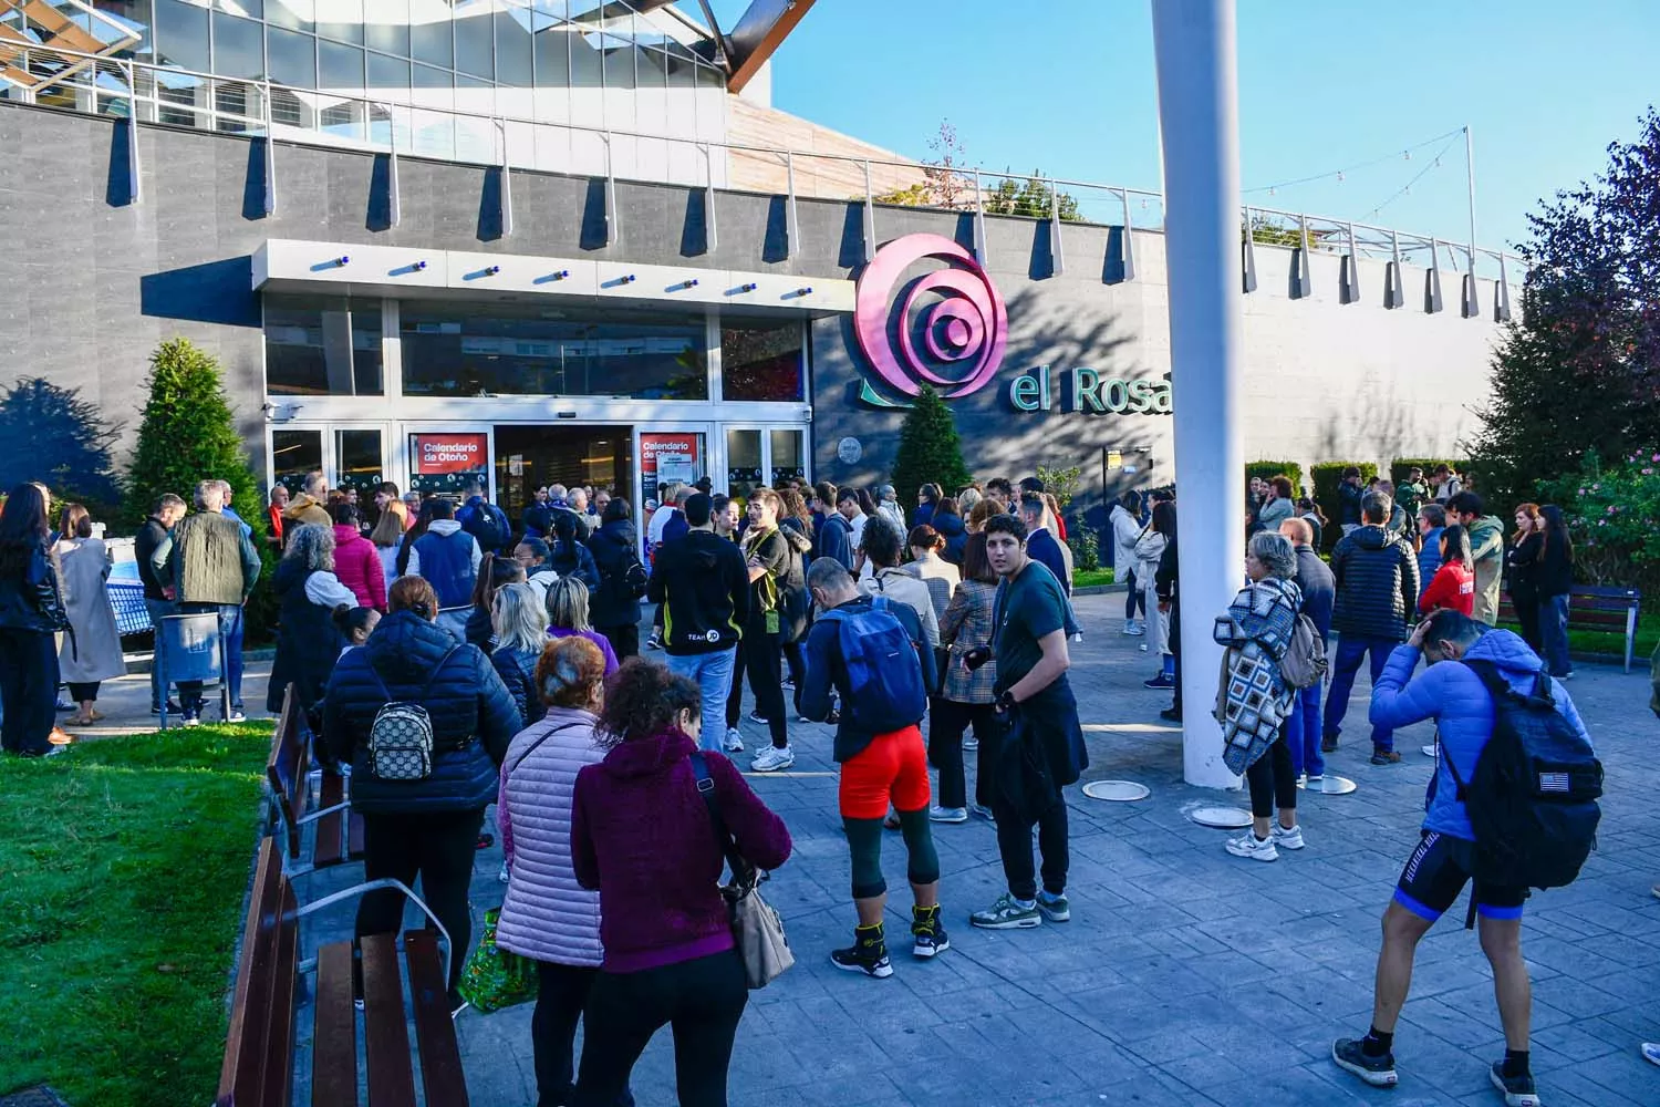
[[[984,246],[988,214],[1139,231],[1164,226],[1164,196],[1129,186],[594,128],[455,106],[392,103],[51,46],[13,48],[10,56],[13,65],[20,61],[30,73],[43,78],[33,88],[12,86],[13,98],[25,103],[300,144],[604,176],[613,224],[618,217],[618,179],[744,189],[745,179],[770,171],[780,174],[782,188],[762,191],[787,196],[790,249],[798,242],[795,209],[802,196],[863,201],[868,251],[875,249],[873,209],[885,202],[886,194],[905,191],[910,194],[895,198],[896,202],[971,212],[979,247]],[[642,164],[652,166],[652,171],[637,173]],[[908,189],[878,188],[878,181],[908,183]],[[274,183],[267,163],[267,193],[271,189]],[[271,196],[267,202],[274,202]],[[712,207],[709,214],[712,224]],[[1250,242],[1257,246],[1411,262],[1424,269],[1441,269],[1444,261],[1449,272],[1501,282],[1522,272],[1521,259],[1507,251],[1350,219],[1247,204],[1242,207],[1240,226],[1242,237],[1248,231]],[[1134,279],[1134,259],[1127,246],[1122,247],[1120,261],[1125,276]],[[1061,264],[1056,247],[1057,271]]]

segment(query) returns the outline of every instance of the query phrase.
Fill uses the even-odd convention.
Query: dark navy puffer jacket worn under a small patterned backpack
[[[369,772],[369,730],[388,700],[417,702],[432,717],[425,780],[383,782]],[[335,664],[322,729],[330,753],[352,763],[354,810],[425,815],[483,810],[496,798],[498,768],[520,717],[476,646],[458,646],[413,611],[393,611],[362,649]]]

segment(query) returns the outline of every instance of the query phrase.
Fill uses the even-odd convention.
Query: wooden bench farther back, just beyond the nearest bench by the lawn
[[[312,773],[310,755],[312,734],[290,684],[282,694],[282,715],[266,762],[272,822],[284,838],[289,876],[364,858],[364,817],[350,808],[347,778],[329,770]],[[315,833],[305,860],[304,836],[310,825]]]

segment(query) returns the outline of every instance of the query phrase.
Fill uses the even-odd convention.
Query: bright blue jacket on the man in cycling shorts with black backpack
[[[1464,656],[1469,661],[1491,661],[1517,692],[1532,690],[1536,675],[1544,669],[1539,656],[1511,631],[1487,631]],[[1456,661],[1429,666],[1414,677],[1418,657],[1416,646],[1396,646],[1389,654],[1383,675],[1371,687],[1371,725],[1399,729],[1424,719],[1436,720],[1441,732],[1441,757],[1436,758],[1424,830],[1474,841],[1476,831],[1457,798],[1457,783],[1448,772],[1448,758],[1452,758],[1464,780],[1476,775],[1481,750],[1492,737],[1492,697],[1481,684],[1481,677]],[[1560,680],[1550,680],[1550,695],[1555,699],[1557,712],[1589,742],[1585,724]]]

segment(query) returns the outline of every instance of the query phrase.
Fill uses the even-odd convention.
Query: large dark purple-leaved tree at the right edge
[[[1529,214],[1522,317],[1494,355],[1471,438],[1481,491],[1532,500],[1585,463],[1660,441],[1660,115],[1595,181]]]

